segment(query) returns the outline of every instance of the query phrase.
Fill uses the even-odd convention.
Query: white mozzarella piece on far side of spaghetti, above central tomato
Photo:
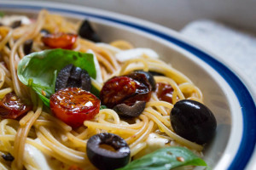
[[[149,58],[153,59],[159,58],[159,55],[150,48],[134,48],[120,51],[119,53],[115,54],[115,58],[120,62],[124,62],[129,59],[141,58],[143,55],[147,55]]]

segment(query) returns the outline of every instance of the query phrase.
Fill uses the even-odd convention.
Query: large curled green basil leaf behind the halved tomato
[[[18,65],[18,77],[20,82],[35,90],[44,104],[49,106],[49,96],[55,93],[56,75],[69,64],[84,69],[90,77],[96,78],[92,54],[64,49],[50,49],[26,55]]]

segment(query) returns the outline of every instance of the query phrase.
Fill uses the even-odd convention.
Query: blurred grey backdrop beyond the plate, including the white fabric
[[[8,0],[6,0],[8,1]],[[19,1],[19,0],[17,0]],[[30,0],[38,1],[38,0]],[[22,3],[21,1],[19,1]],[[127,14],[179,31],[256,86],[256,0],[52,0]]]

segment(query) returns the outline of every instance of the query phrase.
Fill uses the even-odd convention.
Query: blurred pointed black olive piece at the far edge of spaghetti
[[[84,37],[85,39],[89,39],[93,42],[101,42],[101,38],[92,29],[92,27],[90,26],[90,22],[88,20],[84,20],[84,22],[80,26],[79,36]]]

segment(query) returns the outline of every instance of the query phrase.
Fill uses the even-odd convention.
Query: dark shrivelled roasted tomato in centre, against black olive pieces
[[[128,76],[130,75],[113,77],[105,82],[100,94],[103,105],[113,108],[119,104],[134,105],[136,101],[148,101],[150,99],[151,86],[147,82],[147,78],[140,75],[138,80],[143,79],[143,81],[139,82],[134,75]]]

